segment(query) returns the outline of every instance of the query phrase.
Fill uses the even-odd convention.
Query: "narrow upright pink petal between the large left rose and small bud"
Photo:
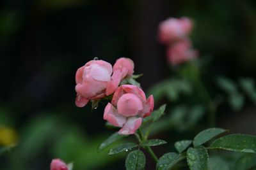
[[[111,81],[108,82],[107,88],[106,88],[106,95],[109,96],[110,94],[113,94],[115,92],[116,88],[118,87],[120,81],[121,81],[121,72],[120,70],[114,71]]]

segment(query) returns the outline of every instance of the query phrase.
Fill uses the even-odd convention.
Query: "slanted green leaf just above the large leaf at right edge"
[[[223,132],[227,132],[227,130],[220,129],[220,128],[206,129],[195,136],[193,145],[194,146],[202,145],[207,141],[211,140],[212,138],[222,134]]]

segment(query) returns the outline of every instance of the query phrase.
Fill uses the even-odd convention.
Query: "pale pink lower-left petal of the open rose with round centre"
[[[110,103],[108,103],[104,110],[103,119],[107,120],[109,124],[115,125],[116,127],[122,127],[126,122],[126,118],[119,115],[116,108]]]

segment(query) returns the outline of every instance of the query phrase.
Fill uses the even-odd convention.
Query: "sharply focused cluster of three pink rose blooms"
[[[134,134],[143,118],[154,108],[154,98],[146,99],[145,93],[135,85],[120,85],[125,78],[131,78],[134,63],[120,58],[114,66],[104,60],[90,60],[76,72],[76,106],[83,107],[90,100],[99,100],[113,94],[111,103],[104,110],[104,120],[116,127],[122,127],[119,134]]]

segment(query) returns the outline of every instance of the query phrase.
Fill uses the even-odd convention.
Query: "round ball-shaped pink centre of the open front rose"
[[[124,117],[132,117],[137,115],[138,111],[143,110],[143,105],[138,96],[124,94],[117,102],[117,110]]]

